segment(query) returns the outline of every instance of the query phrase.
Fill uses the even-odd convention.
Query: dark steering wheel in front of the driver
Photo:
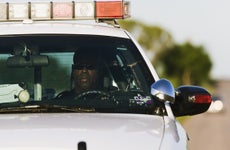
[[[81,94],[78,94],[74,99],[87,99],[87,98],[100,98],[101,100],[107,100],[110,95],[107,92],[100,91],[100,90],[91,90],[86,91]]]

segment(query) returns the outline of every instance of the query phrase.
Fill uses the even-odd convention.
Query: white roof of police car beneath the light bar
[[[0,35],[16,34],[89,34],[128,38],[123,29],[95,21],[0,22]]]

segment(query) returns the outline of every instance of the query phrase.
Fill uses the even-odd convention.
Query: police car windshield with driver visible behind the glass
[[[152,114],[161,105],[150,95],[154,79],[130,39],[4,36],[0,37],[0,53],[2,113]]]

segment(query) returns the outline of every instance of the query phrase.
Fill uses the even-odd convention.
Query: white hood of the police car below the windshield
[[[0,124],[7,150],[159,149],[164,128],[160,116],[101,113],[1,114]]]

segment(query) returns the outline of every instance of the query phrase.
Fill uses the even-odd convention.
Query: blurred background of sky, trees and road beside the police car
[[[189,149],[230,149],[230,1],[129,0],[131,18],[119,21],[147,53],[158,74],[178,87],[207,88],[210,109],[177,118]]]

